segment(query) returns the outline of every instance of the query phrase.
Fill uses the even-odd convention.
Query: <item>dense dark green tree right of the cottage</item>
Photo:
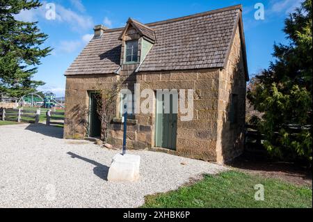
[[[248,99],[264,113],[259,130],[268,152],[312,161],[312,0],[285,19],[284,33],[289,44],[274,45],[275,61],[257,75]]]

